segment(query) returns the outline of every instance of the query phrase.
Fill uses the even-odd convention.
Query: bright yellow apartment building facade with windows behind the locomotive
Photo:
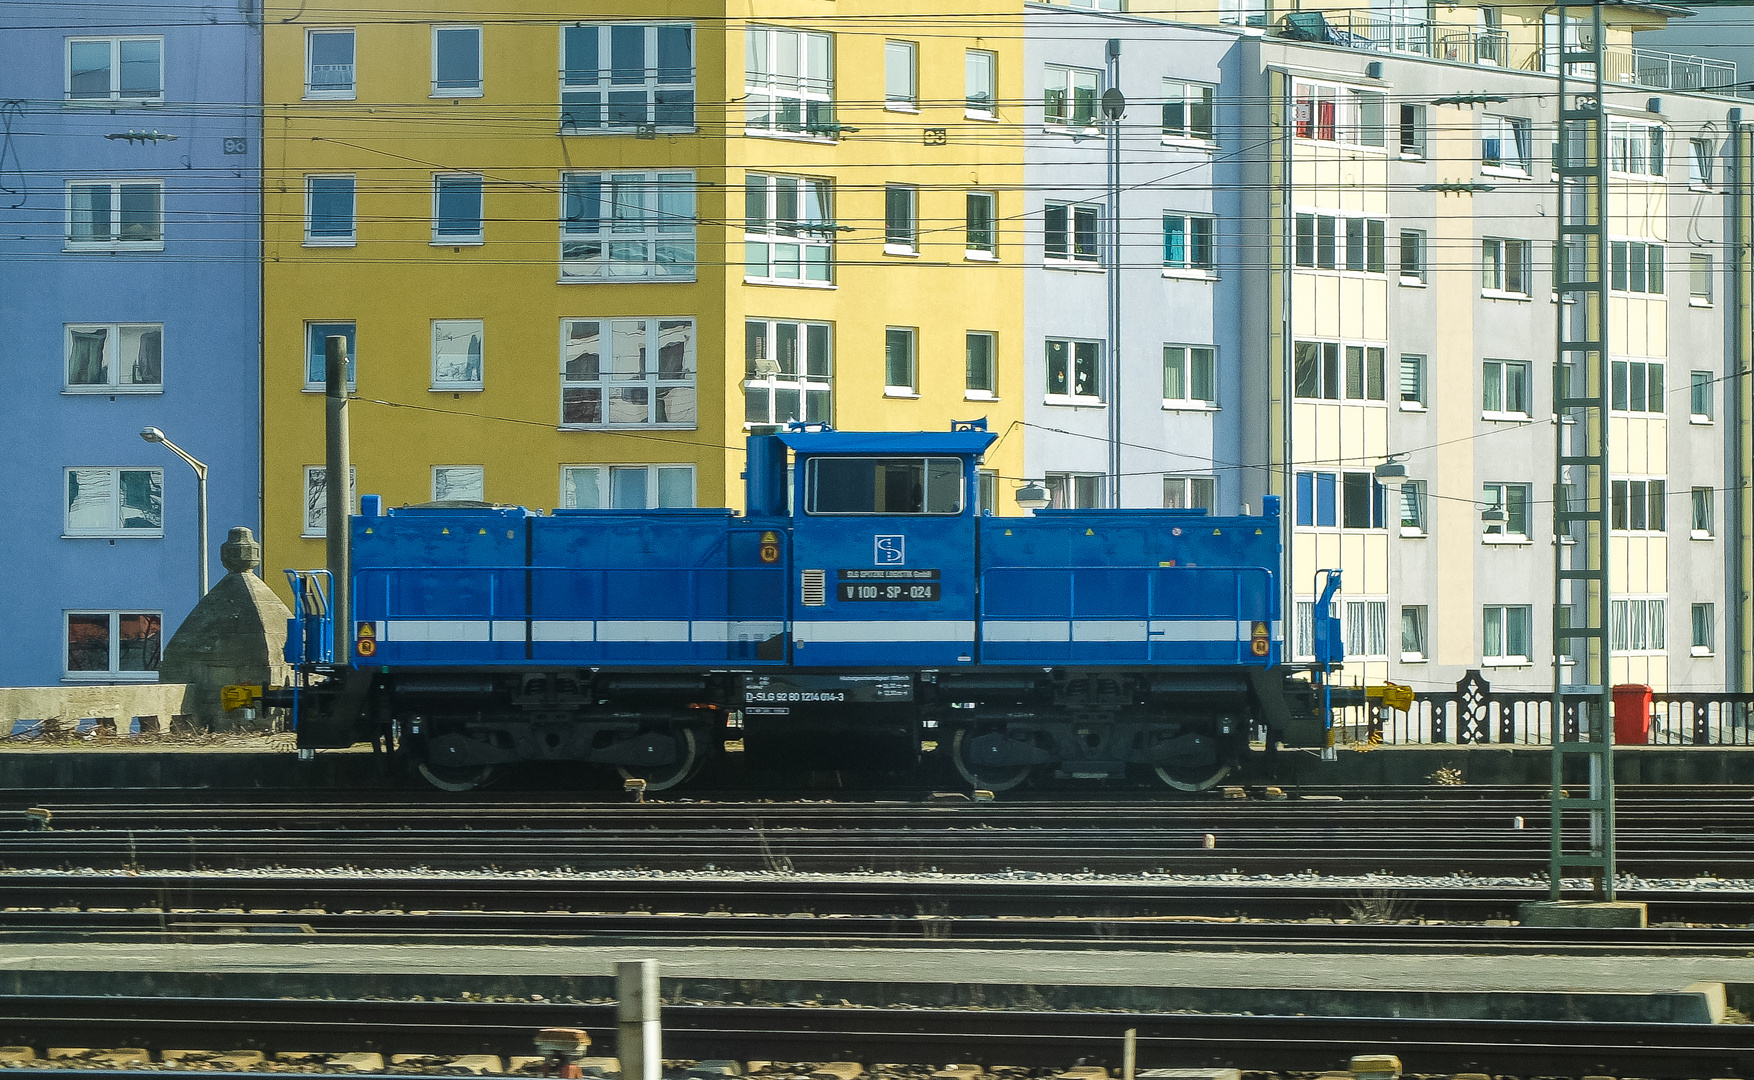
[[[330,335],[389,505],[737,507],[756,423],[1021,417],[1014,9],[446,7],[267,11],[270,566],[323,563]]]

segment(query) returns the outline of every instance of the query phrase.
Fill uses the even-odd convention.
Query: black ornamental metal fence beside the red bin
[[[1559,738],[1577,740],[1579,707],[1594,698],[1565,701]],[[1494,694],[1480,671],[1468,671],[1454,691],[1419,693],[1407,710],[1379,701],[1335,708],[1338,745],[1552,745],[1552,694],[1512,691]],[[1624,743],[1621,743],[1624,745]],[[1652,747],[1754,747],[1754,694],[1654,694]]]

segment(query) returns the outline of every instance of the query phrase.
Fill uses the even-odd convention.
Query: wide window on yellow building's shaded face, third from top
[[[693,428],[693,319],[561,323],[565,428]]]

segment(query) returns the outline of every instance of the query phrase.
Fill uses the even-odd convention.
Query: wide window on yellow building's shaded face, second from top
[[[695,174],[561,174],[561,281],[695,281]]]

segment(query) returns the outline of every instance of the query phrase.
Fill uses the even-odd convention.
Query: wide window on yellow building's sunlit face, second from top
[[[744,277],[835,281],[833,181],[744,174]]]

